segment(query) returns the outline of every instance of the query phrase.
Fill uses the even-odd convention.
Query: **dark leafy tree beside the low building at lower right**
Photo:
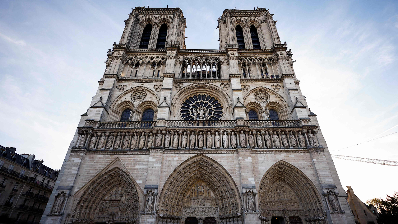
[[[374,206],[376,207],[376,205]],[[393,196],[387,195],[386,200],[381,199],[378,210],[380,210],[377,218],[378,224],[396,224],[398,220],[398,192],[395,192]]]

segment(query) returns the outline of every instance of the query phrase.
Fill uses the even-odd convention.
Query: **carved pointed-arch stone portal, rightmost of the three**
[[[271,166],[259,186],[259,208],[263,217],[299,216],[324,223],[321,197],[314,183],[295,166],[279,161]]]

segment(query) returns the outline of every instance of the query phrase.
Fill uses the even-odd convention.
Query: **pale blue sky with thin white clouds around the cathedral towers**
[[[398,161],[396,1],[2,0],[0,144],[60,169],[107,50],[119,43],[131,8],[144,5],[181,8],[188,49],[218,49],[217,18],[226,8],[269,9],[330,152]],[[398,191],[398,167],[334,163],[344,189],[351,185],[364,202]]]

